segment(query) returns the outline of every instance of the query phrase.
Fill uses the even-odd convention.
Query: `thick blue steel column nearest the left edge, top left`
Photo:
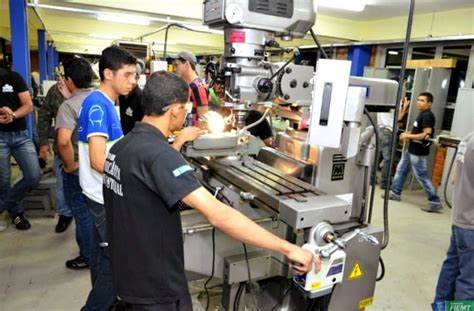
[[[10,31],[13,70],[31,86],[30,46],[28,39],[28,13],[26,0],[10,0]],[[33,137],[32,114],[26,116],[28,135]]]

